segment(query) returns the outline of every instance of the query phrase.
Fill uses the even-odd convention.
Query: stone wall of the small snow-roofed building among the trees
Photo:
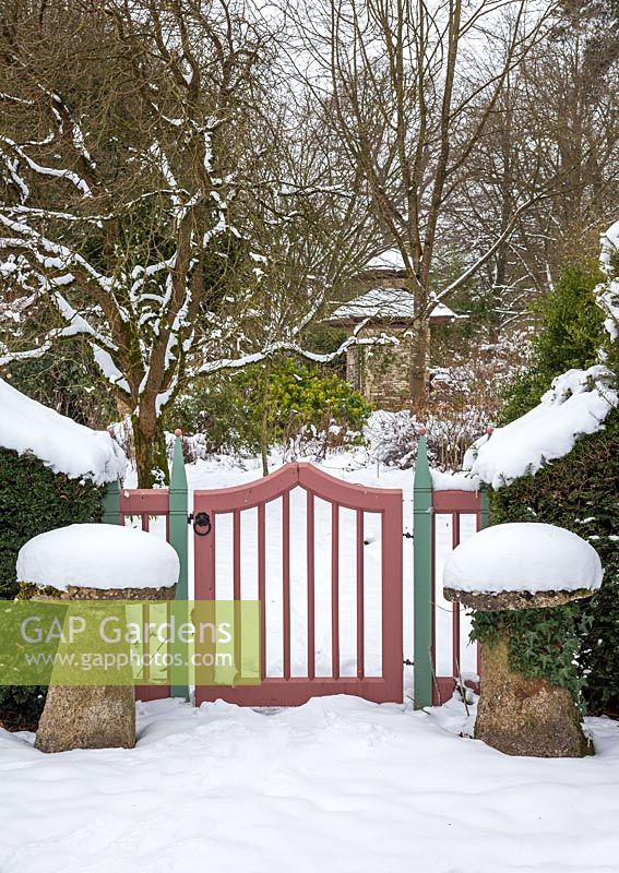
[[[380,336],[384,326],[369,326],[364,336]],[[410,400],[410,338],[393,333],[398,346],[352,346],[346,352],[346,379],[379,409],[402,409]]]

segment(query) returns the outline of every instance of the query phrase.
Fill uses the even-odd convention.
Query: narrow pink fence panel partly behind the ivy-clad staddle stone
[[[486,523],[486,509],[484,505],[485,494],[481,491],[432,491],[432,643],[431,662],[437,663],[437,588],[442,582],[437,581],[437,515],[451,516],[452,548],[455,549],[461,540],[461,518],[463,516],[475,516],[476,530],[480,530]],[[440,706],[449,701],[453,694],[456,680],[461,675],[462,669],[462,638],[461,638],[461,614],[460,603],[451,605],[451,654],[452,670],[451,675],[437,675],[435,670],[435,682],[432,703]],[[477,674],[479,674],[479,651],[477,650]],[[471,684],[478,691],[476,683]]]

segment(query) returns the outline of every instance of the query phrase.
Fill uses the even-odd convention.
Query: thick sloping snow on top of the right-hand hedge
[[[579,436],[604,427],[618,403],[611,382],[603,364],[568,370],[553,380],[534,409],[477,440],[466,453],[465,468],[474,478],[500,488],[563,457]]]

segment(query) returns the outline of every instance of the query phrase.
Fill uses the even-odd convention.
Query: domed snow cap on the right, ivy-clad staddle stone
[[[602,562],[593,546],[564,527],[495,525],[451,552],[443,585],[479,594],[595,590],[602,585]]]

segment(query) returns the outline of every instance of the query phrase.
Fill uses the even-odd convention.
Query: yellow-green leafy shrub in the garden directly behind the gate
[[[336,373],[284,359],[270,373],[254,364],[197,382],[177,398],[166,424],[203,433],[212,452],[254,453],[261,446],[265,396],[271,443],[321,433],[331,424],[342,429],[342,442],[354,441],[359,438],[350,434],[361,431],[370,414],[361,395]]]

